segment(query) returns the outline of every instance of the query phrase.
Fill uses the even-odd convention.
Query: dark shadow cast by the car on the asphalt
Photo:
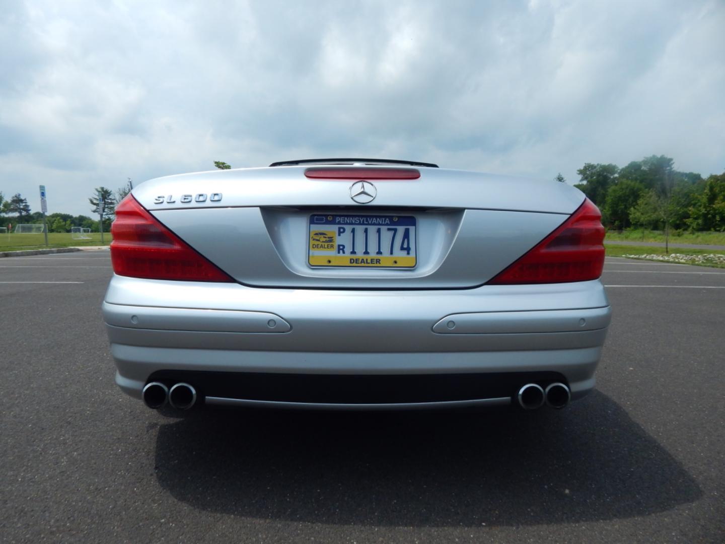
[[[194,508],[326,524],[587,522],[702,496],[601,392],[536,413],[204,408],[159,426],[155,465]]]

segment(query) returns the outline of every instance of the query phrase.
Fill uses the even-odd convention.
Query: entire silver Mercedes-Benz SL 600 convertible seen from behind
[[[401,160],[157,178],[116,208],[116,382],[170,403],[563,408],[610,322],[579,190]]]

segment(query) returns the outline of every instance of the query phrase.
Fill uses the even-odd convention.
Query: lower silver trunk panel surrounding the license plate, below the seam
[[[408,212],[418,218],[413,270],[310,268],[307,218],[315,210],[160,210],[154,215],[237,281],[260,287],[439,289],[484,284],[568,217],[500,210]],[[349,210],[349,208],[345,208]],[[389,215],[354,211],[355,215]],[[204,228],[199,228],[199,224]]]

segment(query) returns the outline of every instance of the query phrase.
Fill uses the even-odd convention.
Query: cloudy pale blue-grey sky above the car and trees
[[[721,173],[724,28],[721,0],[10,0],[0,191],[90,215],[126,178],[327,156]]]

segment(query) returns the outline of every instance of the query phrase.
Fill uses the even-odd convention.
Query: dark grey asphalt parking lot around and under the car
[[[597,391],[536,413],[126,397],[107,250],[0,259],[0,541],[725,540],[725,270],[608,259]]]

